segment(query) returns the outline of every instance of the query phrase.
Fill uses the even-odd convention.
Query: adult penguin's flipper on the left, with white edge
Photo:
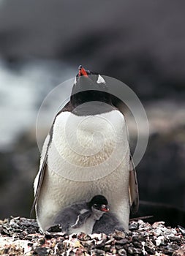
[[[48,159],[48,147],[50,145],[50,135],[48,135],[45,138],[45,143],[42,148],[42,154],[41,154],[41,159],[40,159],[40,165],[39,165],[39,173],[37,174],[35,180],[34,180],[34,202],[31,206],[31,213],[34,211],[34,208],[36,206],[38,197],[39,197],[39,192],[42,187],[42,181],[45,176],[45,170],[47,167],[47,159]]]

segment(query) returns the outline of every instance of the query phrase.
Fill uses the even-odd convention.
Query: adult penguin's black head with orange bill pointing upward
[[[107,84],[102,75],[86,70],[80,65],[72,88],[70,102],[75,108],[85,102],[93,101],[112,105]]]

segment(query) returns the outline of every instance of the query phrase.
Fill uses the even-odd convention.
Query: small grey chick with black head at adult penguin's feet
[[[91,234],[94,223],[107,211],[107,199],[102,195],[95,195],[89,202],[75,203],[64,208],[56,216],[56,225],[59,224],[61,231],[65,233]]]

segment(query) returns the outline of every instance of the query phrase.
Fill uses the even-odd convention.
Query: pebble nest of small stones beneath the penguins
[[[153,225],[143,220],[129,222],[129,232],[115,230],[67,236],[60,232],[42,234],[35,219],[11,217],[0,220],[0,255],[185,255],[184,227]]]

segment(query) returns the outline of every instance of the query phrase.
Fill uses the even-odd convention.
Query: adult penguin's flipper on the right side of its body
[[[137,173],[135,170],[135,165],[130,157],[130,169],[129,169],[129,199],[132,214],[138,211],[139,207],[139,192],[137,186]]]

